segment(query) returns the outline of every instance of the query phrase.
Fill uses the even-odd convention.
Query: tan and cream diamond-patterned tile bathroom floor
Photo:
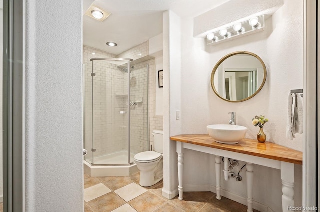
[[[163,181],[139,185],[140,174],[90,177],[84,174],[85,212],[246,212],[247,207],[213,192],[184,192],[183,200],[162,196]],[[95,191],[95,192],[92,192]],[[254,212],[257,212],[254,210]]]

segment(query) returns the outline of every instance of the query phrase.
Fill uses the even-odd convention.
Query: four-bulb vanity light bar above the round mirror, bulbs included
[[[253,34],[264,30],[264,15],[250,17],[235,21],[225,26],[210,30],[206,34],[206,44],[214,45],[227,40],[233,40],[244,35]]]

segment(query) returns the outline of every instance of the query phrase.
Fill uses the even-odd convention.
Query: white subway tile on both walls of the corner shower
[[[138,49],[138,51],[136,50]],[[141,51],[144,50],[144,52]],[[83,61],[89,61],[91,58],[140,58],[136,52],[142,52],[141,56],[146,56],[148,51],[148,42],[141,46],[129,49],[115,56],[108,52],[83,46]],[[95,53],[95,55],[92,54]],[[131,152],[138,153],[147,150],[147,73],[146,65],[149,64],[149,124],[150,124],[150,142],[153,143],[152,130],[163,129],[163,118],[154,117],[155,114],[155,61],[154,59],[135,64],[131,73],[131,101],[142,103],[132,106],[131,113]],[[120,111],[127,112],[127,98],[123,95],[127,93],[127,73],[120,71],[114,64],[105,61],[94,61],[94,156],[105,155],[111,152],[127,149],[127,113],[120,114]],[[110,74],[106,74],[105,68],[108,68]],[[85,65],[85,148],[92,148],[92,78],[90,63]],[[112,81],[112,76],[114,76]],[[135,78],[135,83],[133,77]],[[106,83],[107,82],[107,83]],[[106,101],[107,98],[110,101]],[[113,125],[111,123],[114,123]],[[86,159],[91,161],[92,152],[89,151]]]

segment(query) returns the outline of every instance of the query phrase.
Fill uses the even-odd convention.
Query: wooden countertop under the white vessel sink
[[[214,141],[208,134],[182,134],[171,136],[170,139],[278,161],[302,164],[302,152],[267,141],[260,143],[257,140],[244,138],[238,144],[221,144]]]

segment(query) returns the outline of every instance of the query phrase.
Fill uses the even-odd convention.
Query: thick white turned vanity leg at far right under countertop
[[[282,180],[282,211],[291,211],[289,208],[294,206],[294,164],[281,162]]]

